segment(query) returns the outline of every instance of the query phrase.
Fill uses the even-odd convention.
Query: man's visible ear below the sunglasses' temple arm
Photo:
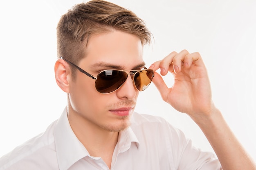
[[[69,93],[72,77],[68,63],[63,59],[58,59],[54,66],[54,72],[58,87],[60,87],[64,92]]]

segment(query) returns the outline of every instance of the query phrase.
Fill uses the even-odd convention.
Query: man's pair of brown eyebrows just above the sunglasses
[[[135,65],[132,70],[138,70],[141,67],[145,66],[145,62],[141,62],[138,65]],[[125,66],[124,65],[114,65],[111,63],[106,63],[106,62],[98,62],[98,63],[94,63],[93,65],[91,65],[91,68],[96,68],[96,69],[117,69],[117,70],[124,70]]]

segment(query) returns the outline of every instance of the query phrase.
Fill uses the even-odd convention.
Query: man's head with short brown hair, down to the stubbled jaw
[[[136,71],[129,71],[141,70],[145,65],[143,45],[150,42],[150,32],[144,22],[122,7],[93,0],[74,6],[61,17],[57,38],[58,57],[63,59],[56,61],[55,76],[58,86],[67,93],[72,129],[80,131],[84,128],[82,126],[92,131],[104,129],[117,132],[126,129],[139,94],[137,87],[146,88],[142,80],[147,76],[151,76],[152,80],[153,72],[148,75],[143,71],[143,76],[139,75],[142,72],[135,75],[142,79],[136,77],[137,84],[134,84],[132,73]],[[102,83],[104,92],[109,92],[103,94],[96,88],[96,80],[85,75],[80,68],[95,78],[106,70],[125,70],[128,76],[119,81],[112,71],[105,72],[105,80],[112,81],[108,78],[111,74],[111,78],[115,79],[112,82],[122,85],[117,85],[119,88],[114,91],[106,89],[106,81],[101,76],[105,82]],[[120,74],[125,75],[124,72]]]

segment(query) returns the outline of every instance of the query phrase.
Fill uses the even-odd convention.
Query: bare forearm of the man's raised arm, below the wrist
[[[209,140],[224,170],[256,170],[254,161],[238,142],[218,109],[209,117],[193,120]]]

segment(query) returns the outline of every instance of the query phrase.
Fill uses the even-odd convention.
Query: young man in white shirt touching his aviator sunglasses
[[[150,32],[134,13],[94,0],[78,4],[57,27],[55,76],[67,93],[61,117],[0,159],[0,170],[254,170],[255,164],[211,100],[198,52],[171,52],[145,68]],[[172,72],[173,87],[161,75]],[[163,100],[202,129],[212,153],[191,146],[162,118],[133,112],[139,91],[155,83]]]

